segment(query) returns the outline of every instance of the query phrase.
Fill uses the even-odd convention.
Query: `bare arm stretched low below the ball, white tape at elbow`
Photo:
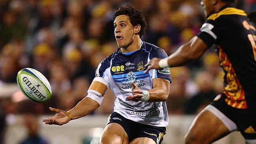
[[[102,97],[104,96],[106,90],[107,90],[106,85],[98,81],[93,81],[91,86],[89,87],[88,93],[89,91],[93,91],[93,94],[96,93],[98,95],[101,95]],[[91,96],[93,94],[90,93]],[[97,96],[95,95],[95,97]],[[61,126],[63,124],[67,124],[70,120],[74,120],[74,119],[86,116],[87,114],[95,111],[95,109],[97,109],[99,106],[100,106],[100,103],[97,102],[96,100],[93,100],[91,97],[90,98],[85,97],[74,108],[70,109],[69,111],[63,111],[61,109],[55,109],[50,107],[50,110],[54,111],[56,114],[51,118],[43,119],[43,122],[49,125],[55,124],[55,125]]]

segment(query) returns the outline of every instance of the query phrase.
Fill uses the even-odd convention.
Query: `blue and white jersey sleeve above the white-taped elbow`
[[[95,78],[96,77],[101,77],[104,79],[105,85],[107,85],[107,87],[109,87],[109,68],[110,68],[110,61],[108,61],[108,59],[104,59],[103,61],[100,62],[100,64],[98,65],[96,72],[95,72]]]

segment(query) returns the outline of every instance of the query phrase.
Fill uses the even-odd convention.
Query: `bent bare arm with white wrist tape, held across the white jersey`
[[[148,100],[146,102],[163,102],[166,101],[169,92],[170,92],[170,82],[161,79],[161,78],[154,78],[152,79],[152,86],[153,89],[150,89],[148,91],[143,91],[139,89],[134,83],[132,83],[133,89],[132,89],[132,96],[128,96],[127,99],[131,101],[144,101],[143,97],[147,97],[147,92],[148,92]],[[146,94],[146,96],[145,96]]]

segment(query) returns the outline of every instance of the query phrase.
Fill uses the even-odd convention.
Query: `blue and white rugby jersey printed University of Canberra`
[[[127,96],[132,95],[132,82],[141,90],[152,89],[154,78],[171,82],[169,67],[161,70],[152,69],[144,74],[144,65],[154,57],[165,58],[167,54],[163,49],[143,41],[140,49],[134,52],[122,53],[121,48],[118,48],[98,65],[96,77],[104,78],[116,96],[114,112],[141,124],[165,127],[168,126],[165,102],[126,100]]]

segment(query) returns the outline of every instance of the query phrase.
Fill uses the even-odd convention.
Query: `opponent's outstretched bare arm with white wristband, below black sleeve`
[[[167,66],[184,66],[186,63],[198,59],[208,49],[208,46],[197,36],[193,37],[189,42],[183,44],[169,57],[164,59],[153,58],[145,66],[148,66],[147,70],[161,69]]]

